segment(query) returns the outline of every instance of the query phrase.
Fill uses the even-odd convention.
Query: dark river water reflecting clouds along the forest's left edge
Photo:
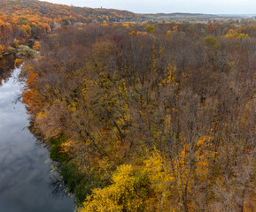
[[[18,74],[15,69],[11,78],[0,83],[0,211],[74,211],[72,197],[52,193],[49,151],[36,144],[27,130],[24,105],[14,103],[22,88]]]

